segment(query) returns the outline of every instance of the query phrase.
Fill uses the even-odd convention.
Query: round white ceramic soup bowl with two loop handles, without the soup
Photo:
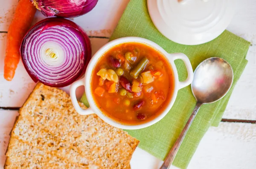
[[[105,52],[108,51],[113,46],[116,46],[116,45],[119,45],[119,44],[125,43],[125,42],[143,43],[143,44],[148,45],[148,46],[156,49],[157,51],[159,51],[163,55],[163,57],[166,58],[166,61],[169,61],[169,64],[171,65],[171,68],[173,70],[173,76],[174,76],[174,81],[175,81],[173,94],[172,94],[171,98],[169,99],[169,102],[166,103],[166,108],[163,110],[163,112],[160,113],[156,118],[152,119],[151,121],[145,122],[143,124],[138,124],[138,125],[120,124],[119,122],[114,121],[113,119],[109,118],[107,115],[102,113],[102,111],[97,107],[95,101],[93,100],[91,84],[90,84],[93,69],[94,69],[96,63],[98,62],[98,60],[100,59],[100,57],[102,57],[102,55],[105,54]],[[176,59],[183,60],[183,62],[186,65],[188,77],[183,82],[179,81],[177,69],[176,69],[176,66],[174,63],[174,61]],[[190,85],[192,80],[193,80],[192,66],[189,61],[189,58],[185,54],[182,54],[182,53],[168,54],[165,50],[163,50],[163,48],[161,48],[159,45],[157,45],[156,43],[154,43],[148,39],[144,39],[144,38],[140,38],[140,37],[123,37],[123,38],[115,39],[111,42],[108,42],[106,45],[102,46],[102,48],[100,48],[99,51],[96,52],[96,54],[94,54],[94,56],[92,57],[92,59],[90,60],[88,66],[87,66],[84,78],[74,82],[71,85],[70,96],[71,96],[72,103],[73,103],[77,113],[79,113],[80,115],[88,115],[88,114],[95,113],[103,121],[107,122],[108,124],[111,124],[114,127],[118,127],[121,129],[135,130],[135,129],[141,129],[144,127],[151,126],[152,124],[157,123],[157,121],[160,121],[172,108],[172,105],[174,104],[178,90]],[[78,101],[76,99],[76,88],[79,86],[84,86],[85,93],[86,93],[88,102],[90,104],[90,107],[88,107],[86,110],[82,109],[79,106]]]

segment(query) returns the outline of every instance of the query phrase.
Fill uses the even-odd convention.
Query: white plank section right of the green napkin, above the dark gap
[[[247,66],[233,90],[223,118],[256,119],[256,43],[250,46],[246,59]]]

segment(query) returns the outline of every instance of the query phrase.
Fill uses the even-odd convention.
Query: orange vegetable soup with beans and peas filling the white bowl
[[[143,70],[139,71],[139,76],[134,78],[131,72],[141,65],[140,61],[143,60],[148,62]],[[116,68],[117,61],[119,68]],[[97,75],[101,69],[104,69],[102,72],[109,69],[117,72],[120,68],[124,73],[121,75],[122,71],[119,71],[119,76],[116,73],[117,83],[110,77],[105,79],[104,77],[108,76],[106,74]],[[114,74],[112,70],[109,71]],[[124,78],[129,83],[124,81]],[[127,86],[122,86],[124,82],[136,92],[128,87],[125,94],[124,89]],[[174,77],[169,62],[159,51],[137,42],[122,43],[106,51],[97,61],[91,77],[91,91],[97,107],[114,121],[126,125],[143,124],[156,118],[166,108],[173,90]]]

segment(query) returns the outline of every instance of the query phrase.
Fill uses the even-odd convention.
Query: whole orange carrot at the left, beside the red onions
[[[20,44],[31,26],[35,12],[36,8],[30,0],[19,0],[7,33],[3,76],[8,81],[11,81],[14,77],[20,61]]]

